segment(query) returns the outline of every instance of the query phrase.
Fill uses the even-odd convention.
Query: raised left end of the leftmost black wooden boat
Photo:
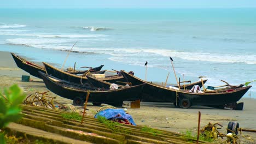
[[[39,75],[38,71],[41,71],[42,73],[45,73],[45,69],[36,67],[35,65],[29,64],[30,62],[25,61],[24,59],[16,56],[14,53],[11,53],[11,56],[13,56],[13,59],[16,63],[16,65],[22,69],[25,70],[27,73],[29,73],[32,76],[38,77],[39,79],[42,79],[42,77]]]

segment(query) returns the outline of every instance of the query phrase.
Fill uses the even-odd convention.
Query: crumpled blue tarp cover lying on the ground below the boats
[[[117,118],[127,119],[130,123],[132,123],[132,125],[136,125],[132,119],[132,116],[126,114],[123,109],[107,109],[107,110],[96,113],[94,117],[97,118],[98,116],[105,117],[108,120],[117,119]]]

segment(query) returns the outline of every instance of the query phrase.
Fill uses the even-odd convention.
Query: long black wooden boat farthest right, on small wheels
[[[154,83],[149,83],[126,73],[124,70],[121,70],[121,73],[127,82],[131,82],[133,86],[140,85],[141,83],[147,83],[147,85],[142,89],[141,101],[160,103],[170,102],[177,104],[182,108],[188,108],[193,104],[217,108],[224,108],[227,105],[233,105],[232,108],[235,109],[236,106],[238,106],[236,104],[237,101],[240,100],[248,89],[252,87],[226,88],[222,89],[222,91],[216,92],[193,93],[189,92],[189,90],[167,88]],[[242,110],[242,107],[239,106],[237,109]]]

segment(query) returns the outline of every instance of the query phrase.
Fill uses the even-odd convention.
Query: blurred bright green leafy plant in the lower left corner
[[[22,117],[19,104],[25,97],[26,95],[16,84],[0,93],[0,143],[5,143],[3,128]]]

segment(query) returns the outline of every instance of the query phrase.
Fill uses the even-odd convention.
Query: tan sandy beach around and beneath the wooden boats
[[[29,95],[35,92],[49,91],[43,80],[37,77],[30,76],[30,82],[21,82],[21,75],[29,75],[24,70],[18,68],[10,55],[10,52],[0,52],[0,88],[9,87],[14,83],[18,83],[24,89],[24,92]],[[42,64],[41,64],[42,65]],[[49,96],[56,97],[55,101],[65,104],[72,104],[73,101],[65,99],[49,92]],[[209,122],[219,123],[223,125],[220,129],[222,133],[226,134],[226,127],[230,121],[240,123],[240,127],[244,129],[256,130],[256,100],[253,98],[242,98],[240,102],[244,102],[243,111],[236,110],[220,110],[211,107],[192,106],[190,109],[179,109],[170,103],[141,103],[141,108],[131,109],[130,101],[125,101],[123,108],[127,108],[127,112],[133,117],[138,125],[147,125],[147,127],[164,129],[168,131],[182,132],[197,130],[198,113],[201,112],[201,128]],[[103,104],[104,105],[104,104]],[[102,105],[102,106],[103,106]],[[94,116],[99,106],[93,106],[88,103],[87,115]],[[81,109],[82,111],[82,109]],[[252,137],[256,140],[255,133],[243,132],[242,135]],[[240,136],[241,139],[242,136]],[[252,142],[252,141],[247,141]]]

